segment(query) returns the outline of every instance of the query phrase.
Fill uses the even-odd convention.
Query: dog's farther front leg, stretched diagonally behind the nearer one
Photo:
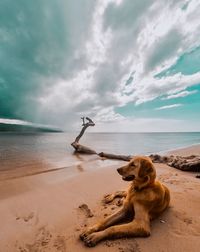
[[[125,218],[126,214],[127,214],[127,209],[125,207],[123,207],[122,209],[120,209],[116,213],[114,213],[114,214],[108,216],[107,218],[105,218],[103,221],[101,221],[101,222],[97,223],[96,225],[86,229],[80,235],[81,240],[84,240],[91,233],[104,230],[105,228],[116,224],[117,222],[119,222],[120,220]]]

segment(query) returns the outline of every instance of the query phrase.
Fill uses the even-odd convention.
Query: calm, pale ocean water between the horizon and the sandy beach
[[[77,133],[0,133],[0,179],[41,170],[69,168],[94,160],[95,155],[73,155]],[[200,143],[200,132],[191,133],[86,133],[80,143],[97,152],[137,155],[162,153]],[[5,175],[6,174],[6,175]]]

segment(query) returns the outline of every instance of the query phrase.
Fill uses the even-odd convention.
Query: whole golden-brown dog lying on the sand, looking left
[[[117,171],[123,180],[132,181],[127,193],[117,192],[117,196],[126,196],[123,207],[80,235],[88,247],[106,238],[149,236],[150,220],[159,216],[169,205],[169,190],[155,181],[156,170],[151,159],[137,156]],[[115,196],[113,194],[111,198]],[[126,219],[131,221],[113,226]]]

